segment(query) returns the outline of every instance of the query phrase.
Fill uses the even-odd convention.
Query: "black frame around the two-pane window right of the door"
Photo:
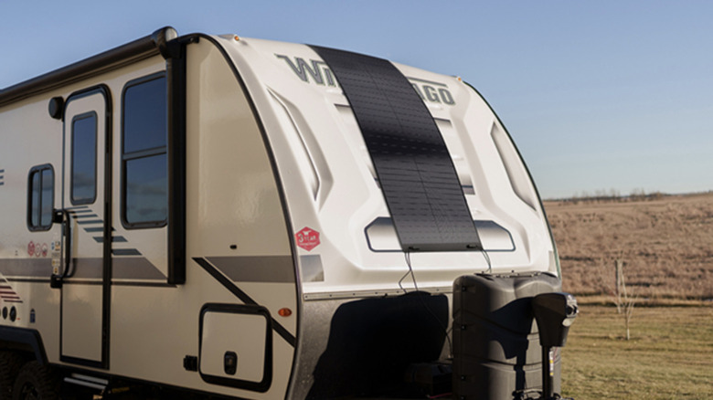
[[[166,141],[165,141],[165,145],[161,146],[161,147],[153,147],[153,148],[144,149],[144,150],[140,150],[140,151],[134,151],[134,152],[128,153],[129,155],[127,156],[127,153],[124,153],[124,148],[125,148],[124,141],[126,139],[126,135],[124,132],[125,127],[126,127],[126,123],[125,123],[125,119],[126,119],[126,112],[125,112],[126,111],[126,107],[125,107],[126,91],[128,89],[133,88],[134,86],[138,86],[138,85],[141,85],[141,84],[144,84],[144,83],[150,82],[152,80],[156,80],[156,79],[165,79],[165,87],[166,87],[166,92],[165,92],[165,107],[166,107],[165,138],[166,138]],[[119,216],[120,216],[120,219],[122,220],[122,226],[126,229],[158,228],[158,227],[164,227],[164,226],[168,225],[168,215],[169,215],[168,203],[170,201],[169,201],[169,197],[168,197],[168,195],[169,195],[168,194],[169,171],[168,171],[167,161],[166,161],[166,182],[165,182],[165,184],[166,184],[166,215],[165,215],[165,218],[161,221],[142,221],[142,222],[130,222],[126,218],[126,211],[127,211],[127,207],[126,207],[126,195],[127,195],[126,164],[127,164],[127,162],[132,161],[132,160],[139,160],[144,157],[151,157],[151,156],[161,155],[161,154],[165,154],[166,160],[168,159],[168,136],[169,136],[168,123],[169,123],[169,119],[170,119],[170,116],[169,116],[170,111],[168,110],[168,106],[169,106],[169,104],[168,104],[168,101],[169,101],[168,100],[168,85],[169,85],[168,77],[166,76],[165,71],[160,71],[160,72],[156,72],[154,74],[146,75],[141,78],[132,79],[132,80],[126,82],[126,84],[122,88],[122,117],[121,117],[122,118],[122,133],[121,133],[122,138],[121,138],[121,154],[120,154],[120,156],[121,156],[121,206],[120,206]]]

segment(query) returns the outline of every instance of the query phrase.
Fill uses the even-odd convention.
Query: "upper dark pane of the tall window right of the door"
[[[130,86],[123,96],[123,152],[165,147],[165,78]]]

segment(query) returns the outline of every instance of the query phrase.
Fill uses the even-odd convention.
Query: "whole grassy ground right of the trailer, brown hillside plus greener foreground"
[[[713,194],[545,208],[563,289],[580,301],[563,349],[564,395],[713,398]],[[612,307],[617,259],[636,300],[629,341]]]

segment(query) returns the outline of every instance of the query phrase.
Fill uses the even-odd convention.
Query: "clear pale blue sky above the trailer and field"
[[[461,76],[545,198],[713,190],[711,1],[0,0],[0,88],[161,26]]]

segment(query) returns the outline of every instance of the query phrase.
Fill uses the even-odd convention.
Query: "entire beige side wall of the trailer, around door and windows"
[[[165,283],[167,268],[160,257],[112,258],[110,365],[101,374],[243,398],[282,399],[292,376],[300,310],[280,193],[260,126],[227,60],[209,40],[188,45],[186,53],[186,284]],[[164,68],[163,58],[147,59],[0,110],[0,285],[19,298],[10,302],[0,296],[0,324],[40,332],[50,363],[60,363],[60,291],[49,288],[51,248],[48,254],[41,248],[59,240],[60,229],[55,225],[46,232],[30,232],[26,224],[27,174],[32,166],[54,167],[56,208],[62,194],[62,122],[49,118],[48,100],[67,99],[98,84],[109,87],[114,112],[112,225],[125,238],[112,247],[128,246],[150,256],[152,248],[165,242],[153,243],[142,229],[126,229],[119,222],[122,89],[128,81]],[[39,244],[38,253],[28,254],[30,241]],[[269,387],[208,383],[197,372],[186,371],[184,357],[201,353],[201,310],[207,304],[247,304],[269,315],[255,319],[261,329],[250,328],[242,336],[233,332],[239,346],[225,349],[239,353],[245,343],[263,346],[268,321],[271,359],[264,364],[271,369]],[[2,308],[12,306],[18,318],[3,320]],[[282,317],[281,309],[292,312]],[[261,337],[251,338],[250,332]],[[208,354],[220,352],[213,346]],[[247,359],[244,365],[250,367]],[[258,376],[241,371],[240,361],[237,367],[236,376]],[[208,372],[220,374],[219,368]]]

